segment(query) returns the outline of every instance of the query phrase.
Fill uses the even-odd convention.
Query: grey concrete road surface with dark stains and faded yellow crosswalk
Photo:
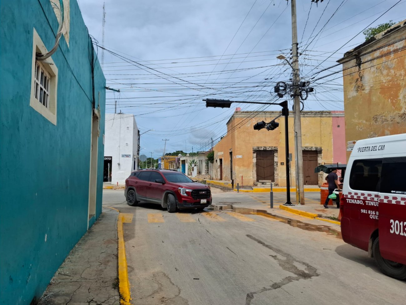
[[[213,192],[215,203],[253,202],[249,193]],[[134,305],[406,302],[406,282],[333,235],[227,210],[130,207],[123,190],[104,190],[103,204],[134,214],[123,224]]]

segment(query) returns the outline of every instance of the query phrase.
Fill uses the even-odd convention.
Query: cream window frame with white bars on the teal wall
[[[31,95],[30,95],[30,106],[34,108],[38,113],[43,115],[52,124],[56,125],[56,102],[57,102],[57,86],[58,86],[58,68],[56,67],[52,57],[48,57],[44,61],[38,61],[35,57],[37,53],[47,53],[48,50],[45,48],[41,38],[39,37],[37,31],[33,30],[32,37],[32,68],[31,68]],[[37,78],[37,66],[39,66],[39,79]],[[46,88],[44,84],[41,85],[41,70],[44,76],[46,76],[49,81]],[[42,96],[41,89],[46,94],[45,103]]]

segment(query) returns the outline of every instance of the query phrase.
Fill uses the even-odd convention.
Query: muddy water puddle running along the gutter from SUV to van
[[[266,210],[260,210],[260,209],[248,209],[245,207],[234,207],[233,205],[211,205],[207,207],[205,210],[209,211],[233,211],[235,213],[243,214],[243,215],[261,215],[264,217],[268,217],[274,220],[278,220],[280,222],[283,222],[285,224],[289,224],[291,227],[299,228],[302,230],[306,231],[314,231],[314,232],[324,232],[330,235],[334,235],[338,238],[341,237],[341,231],[337,231],[331,227],[328,227],[326,225],[322,224],[309,224],[306,222],[302,222],[300,220],[296,219],[291,219],[279,215],[275,215],[272,213],[269,213]]]

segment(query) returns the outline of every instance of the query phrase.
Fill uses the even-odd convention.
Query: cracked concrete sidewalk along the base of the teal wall
[[[103,208],[102,215],[56,271],[38,305],[120,304],[118,216],[119,212]]]

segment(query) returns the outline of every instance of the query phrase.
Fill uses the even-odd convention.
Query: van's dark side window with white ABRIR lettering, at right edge
[[[380,192],[406,194],[406,157],[384,158],[382,161],[382,179]]]

